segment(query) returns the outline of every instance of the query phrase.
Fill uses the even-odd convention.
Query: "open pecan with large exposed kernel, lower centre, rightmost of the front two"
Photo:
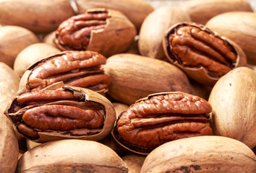
[[[168,141],[211,135],[210,104],[184,92],[151,94],[119,115],[113,130],[116,141],[139,154],[148,154]]]

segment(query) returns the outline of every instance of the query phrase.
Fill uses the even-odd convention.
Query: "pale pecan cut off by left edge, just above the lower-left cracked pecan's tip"
[[[4,112],[16,96],[19,84],[20,77],[7,64],[0,62],[0,112]]]

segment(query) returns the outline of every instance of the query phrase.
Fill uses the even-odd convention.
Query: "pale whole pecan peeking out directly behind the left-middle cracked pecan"
[[[27,68],[43,58],[59,53],[61,50],[46,43],[35,43],[23,49],[15,58],[14,71],[22,77]]]

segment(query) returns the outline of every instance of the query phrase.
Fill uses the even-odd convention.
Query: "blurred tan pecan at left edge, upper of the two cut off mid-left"
[[[33,32],[18,26],[0,26],[0,40],[0,61],[11,68],[20,51],[28,45],[39,43],[38,37]]]

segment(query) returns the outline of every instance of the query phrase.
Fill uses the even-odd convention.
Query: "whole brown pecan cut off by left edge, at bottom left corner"
[[[15,171],[19,146],[9,119],[0,111],[0,172],[13,173]]]

